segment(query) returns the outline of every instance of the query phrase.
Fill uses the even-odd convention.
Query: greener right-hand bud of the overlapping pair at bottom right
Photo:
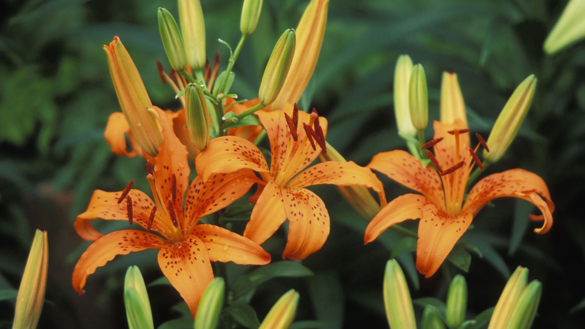
[[[515,305],[514,310],[512,310],[506,328],[529,329],[536,316],[538,304],[541,302],[541,294],[541,282],[534,280],[529,283],[518,298],[518,303]]]

